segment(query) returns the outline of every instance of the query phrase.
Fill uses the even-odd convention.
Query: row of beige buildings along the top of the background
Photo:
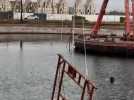
[[[23,12],[46,14],[69,14],[67,0],[22,0]],[[72,11],[75,14],[95,14],[95,0],[76,0]],[[21,11],[21,0],[0,0],[0,11]]]

